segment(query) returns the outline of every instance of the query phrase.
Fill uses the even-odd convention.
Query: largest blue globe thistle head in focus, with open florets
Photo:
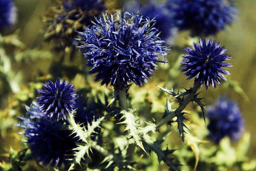
[[[145,22],[145,20],[147,20]],[[89,74],[97,73],[95,81],[102,80],[101,85],[122,85],[134,82],[142,86],[156,69],[156,62],[168,50],[156,34],[158,30],[152,25],[155,21],[142,18],[141,14],[128,12],[96,19],[91,28],[85,28],[80,34],[84,56],[88,58],[88,66],[92,66]],[[84,45],[82,43],[84,42]]]

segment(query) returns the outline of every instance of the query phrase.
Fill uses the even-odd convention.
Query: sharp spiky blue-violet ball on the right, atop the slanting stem
[[[221,85],[221,80],[226,81],[224,74],[230,75],[230,72],[224,70],[222,67],[231,67],[224,61],[230,60],[231,56],[225,54],[228,49],[224,46],[220,47],[220,42],[212,41],[210,38],[207,42],[199,38],[199,45],[195,42],[192,43],[192,48],[186,47],[188,54],[183,54],[183,61],[181,64],[182,72],[190,80],[195,78],[194,85],[200,82],[201,87],[208,86],[216,88],[216,82]]]

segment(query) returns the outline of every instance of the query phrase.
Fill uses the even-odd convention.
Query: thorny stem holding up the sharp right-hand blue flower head
[[[170,115],[168,115],[167,117],[163,118],[162,120],[160,120],[157,124],[156,124],[156,128],[161,127],[162,125],[164,125],[165,123],[168,123],[170,120],[172,120],[172,118],[175,117],[176,113],[181,113],[185,107],[188,105],[188,103],[190,103],[190,101],[193,99],[194,95],[196,94],[196,91],[199,89],[200,87],[200,82],[197,82],[194,87],[192,88],[192,93],[190,93],[186,99],[182,102],[182,104],[175,110],[173,111]]]

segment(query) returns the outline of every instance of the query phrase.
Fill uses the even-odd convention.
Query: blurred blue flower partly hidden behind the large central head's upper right
[[[129,1],[125,5],[126,10],[130,13],[137,13],[140,8],[140,12],[143,16],[148,16],[150,19],[155,18],[156,23],[154,27],[159,30],[159,37],[162,40],[167,40],[172,36],[171,14],[166,8],[166,4],[164,2],[150,0],[142,4],[141,1],[133,0]]]

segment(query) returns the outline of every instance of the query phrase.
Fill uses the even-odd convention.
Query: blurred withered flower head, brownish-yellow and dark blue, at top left
[[[56,6],[48,8],[42,17],[45,25],[44,38],[55,40],[56,50],[73,47],[76,31],[82,31],[91,24],[94,16],[101,16],[106,6],[102,0],[56,0]]]

